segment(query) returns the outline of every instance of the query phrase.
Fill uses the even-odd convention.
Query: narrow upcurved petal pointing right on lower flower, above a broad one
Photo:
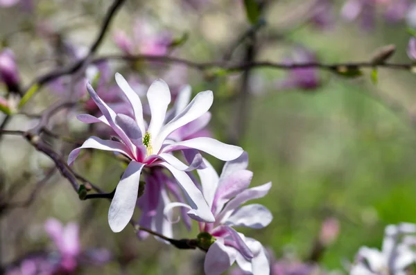
[[[219,215],[217,216],[216,224],[221,224],[222,222],[225,222],[229,215],[231,215],[235,209],[241,206],[241,204],[248,202],[250,199],[259,199],[260,197],[264,197],[271,187],[272,183],[268,182],[267,184],[244,190],[239,195],[236,195],[234,199],[231,199],[227,203],[227,205],[225,205],[223,211],[219,213]]]

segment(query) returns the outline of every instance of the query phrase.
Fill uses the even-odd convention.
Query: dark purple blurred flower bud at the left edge
[[[15,54],[10,48],[5,48],[0,53],[0,79],[7,85],[9,91],[19,90],[19,69],[17,69]]]

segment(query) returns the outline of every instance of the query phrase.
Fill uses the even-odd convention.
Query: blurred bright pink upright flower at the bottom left
[[[58,220],[49,219],[45,223],[45,230],[60,252],[60,268],[65,272],[73,272],[81,251],[78,225],[69,223],[64,227]]]

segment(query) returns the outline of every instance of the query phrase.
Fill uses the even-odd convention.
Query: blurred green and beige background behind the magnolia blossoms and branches
[[[187,41],[170,55],[197,62],[221,60],[239,35],[250,29],[242,2],[127,1],[97,55],[120,54],[114,33],[123,30],[131,36],[139,19],[150,24],[155,33],[167,31],[176,39],[187,33]],[[364,29],[358,20],[343,20],[340,9],[345,1],[336,1],[326,11],[333,20],[322,30],[306,20],[311,12],[302,10],[309,5],[306,2],[268,3],[263,12],[266,25],[257,31],[256,60],[284,62],[297,46],[303,46],[315,53],[319,62],[368,61],[379,46],[395,44],[391,61],[409,62],[406,21],[391,24],[379,15],[374,28]],[[109,5],[110,1],[42,0],[34,1],[31,10],[20,4],[0,8],[0,39],[15,52],[22,82],[28,85],[36,76],[71,61],[59,52],[60,42],[88,47]],[[244,59],[244,49],[245,43],[236,48],[234,62]],[[116,61],[111,66],[112,73],[131,73],[146,86],[172,69],[163,62]],[[175,76],[176,71],[180,76]],[[416,222],[416,82],[409,71],[379,69],[376,84],[371,81],[371,69],[365,69],[359,78],[320,71],[319,85],[302,89],[279,85],[290,77],[288,71],[252,69],[243,113],[239,112],[243,73],[179,67],[171,73],[173,77],[165,79],[168,85],[184,78],[195,94],[214,91],[209,125],[213,136],[238,143],[248,152],[253,186],[272,181],[270,193],[258,202],[272,211],[274,220],[266,229],[242,232],[257,238],[276,256],[307,258],[322,222],[336,218],[340,222],[338,238],[325,249],[320,264],[347,274],[345,266],[354,260],[359,247],[380,247],[385,225]],[[6,95],[3,90],[0,96]],[[43,87],[24,112],[37,114],[61,96],[53,87]],[[79,113],[78,107],[60,112],[53,118],[53,130],[85,139],[87,129],[75,118]],[[241,119],[245,129],[236,136],[236,121]],[[28,130],[33,123],[32,118],[15,115],[7,127]],[[73,148],[71,143],[50,142],[64,155]],[[223,163],[210,160],[220,171]],[[51,161],[21,137],[3,136],[1,200],[23,201],[50,167]],[[83,154],[74,169],[108,191],[123,172],[111,154],[98,151]],[[130,228],[112,233],[107,224],[108,206],[106,200],[80,201],[55,172],[30,206],[1,213],[1,263],[27,251],[51,247],[43,224],[54,217],[78,222],[83,247],[103,247],[116,258],[81,274],[200,274],[200,251],[177,250],[154,238],[138,240]],[[193,233],[196,227],[193,224]],[[178,238],[194,235],[182,225],[175,230]]]

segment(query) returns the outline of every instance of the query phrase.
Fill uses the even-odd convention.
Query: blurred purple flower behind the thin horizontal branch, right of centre
[[[316,62],[317,57],[315,53],[312,53],[308,49],[298,46],[293,51],[293,56],[290,60],[286,60],[285,63],[297,64],[297,63],[312,63]],[[291,69],[288,72],[285,80],[279,80],[277,87],[279,89],[316,89],[320,87],[321,80],[319,72],[314,68],[298,68]]]

